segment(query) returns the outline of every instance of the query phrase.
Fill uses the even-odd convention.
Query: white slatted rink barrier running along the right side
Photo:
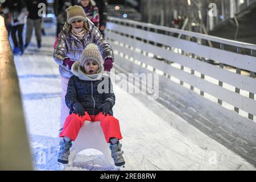
[[[256,45],[113,17],[106,29],[117,57],[137,61],[170,81],[176,79],[203,100],[207,95],[218,106],[255,123]]]

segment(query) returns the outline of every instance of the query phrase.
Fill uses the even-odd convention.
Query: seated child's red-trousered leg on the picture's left
[[[75,141],[85,121],[91,121],[89,114],[86,112],[82,117],[80,117],[78,114],[69,114],[65,120],[60,137],[68,137]]]

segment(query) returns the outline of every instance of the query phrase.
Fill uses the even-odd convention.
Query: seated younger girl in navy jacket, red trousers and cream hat
[[[68,82],[65,102],[70,109],[65,119],[60,137],[58,162],[67,164],[72,140],[75,141],[85,121],[100,121],[101,128],[115,166],[123,166],[122,139],[119,121],[113,116],[115,104],[112,82],[108,76],[102,76],[102,57],[95,44],[89,44],[82,52],[81,59],[72,65],[72,76]],[[102,84],[103,83],[103,84]],[[101,86],[100,86],[101,85]],[[103,86],[102,86],[103,85]]]

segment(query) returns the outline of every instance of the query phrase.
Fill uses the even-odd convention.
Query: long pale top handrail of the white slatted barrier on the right
[[[199,34],[199,33],[196,33],[196,32],[191,32],[191,31],[186,31],[186,30],[179,30],[177,28],[164,27],[164,26],[159,26],[159,25],[155,25],[155,24],[151,24],[151,23],[137,22],[137,21],[129,20],[129,19],[119,19],[119,18],[115,18],[113,16],[109,16],[108,20],[110,22],[111,21],[116,21],[116,22],[121,22],[121,23],[129,23],[129,24],[134,24],[135,26],[153,28],[153,29],[157,29],[157,30],[173,32],[173,33],[176,33],[176,34],[187,35],[187,36],[195,37],[195,38],[198,38],[198,39],[210,40],[212,42],[218,42],[218,43],[221,43],[221,44],[228,44],[230,46],[256,50],[256,45],[255,44],[244,43],[244,42],[239,42],[239,41],[236,41],[236,40],[229,40],[229,39],[224,39],[224,38],[218,38],[218,37],[212,36],[212,35]]]

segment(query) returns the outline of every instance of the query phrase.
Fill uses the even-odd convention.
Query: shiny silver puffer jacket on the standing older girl
[[[90,43],[94,43],[100,48],[103,60],[110,58],[114,62],[114,55],[110,44],[103,38],[98,28],[89,19],[87,19],[86,23],[88,24],[89,32],[86,32],[82,40],[77,39],[72,32],[69,32],[71,25],[67,22],[65,22],[63,30],[59,34],[53,58],[59,64],[59,72],[62,77],[70,78],[73,76],[67,65],[63,65],[64,59],[69,58],[72,61],[78,61],[82,51]]]

